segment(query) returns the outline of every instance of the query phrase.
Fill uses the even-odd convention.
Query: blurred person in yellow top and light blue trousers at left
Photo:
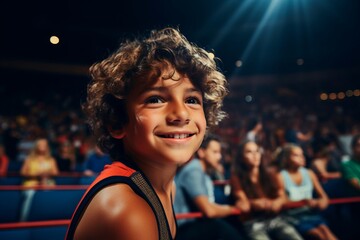
[[[56,160],[51,156],[48,140],[44,138],[36,140],[35,146],[30,151],[20,170],[20,174],[25,178],[23,186],[55,185],[53,177],[58,173]],[[35,190],[33,189],[23,192],[24,199],[20,210],[20,221],[27,220],[34,194]]]

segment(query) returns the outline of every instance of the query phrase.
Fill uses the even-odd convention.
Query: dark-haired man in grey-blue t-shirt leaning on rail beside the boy
[[[209,134],[203,140],[196,157],[182,166],[176,177],[176,213],[200,211],[204,218],[178,220],[179,240],[191,239],[240,239],[240,233],[224,217],[237,211],[234,206],[217,204],[214,185],[208,171],[221,160],[221,143],[216,135]]]

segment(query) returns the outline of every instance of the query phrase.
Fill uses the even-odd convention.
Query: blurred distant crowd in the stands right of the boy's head
[[[234,158],[238,144],[245,139],[262,147],[267,164],[274,160],[277,149],[294,143],[302,147],[306,166],[327,177],[324,162],[329,171],[336,171],[339,163],[351,155],[351,139],[360,133],[360,113],[354,110],[358,105],[356,101],[336,103],[271,96],[254,103],[230,102],[225,105],[229,117],[215,133],[226,145],[225,164]]]

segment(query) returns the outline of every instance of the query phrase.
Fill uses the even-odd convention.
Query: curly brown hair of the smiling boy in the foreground
[[[214,59],[174,28],[153,30],[147,38],[123,42],[115,53],[90,67],[92,81],[83,110],[99,147],[113,159],[118,160],[123,147],[110,129],[127,123],[128,94],[134,87],[154,83],[167,67],[187,76],[202,91],[208,127],[225,117],[221,107],[227,82]]]

